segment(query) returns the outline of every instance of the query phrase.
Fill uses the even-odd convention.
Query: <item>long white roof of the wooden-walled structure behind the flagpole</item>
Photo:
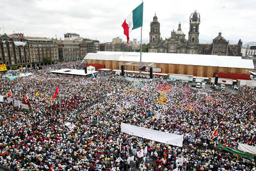
[[[88,53],[84,59],[134,61],[140,62],[140,52],[107,52]],[[143,63],[186,64],[197,66],[216,66],[227,68],[254,69],[252,59],[241,56],[212,56],[199,54],[142,53]]]

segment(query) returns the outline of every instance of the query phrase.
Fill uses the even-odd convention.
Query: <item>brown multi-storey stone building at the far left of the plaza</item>
[[[48,61],[45,61],[45,59]],[[58,61],[58,48],[52,39],[25,37],[24,34],[3,34],[0,36],[0,64],[13,67],[31,68],[53,64]]]

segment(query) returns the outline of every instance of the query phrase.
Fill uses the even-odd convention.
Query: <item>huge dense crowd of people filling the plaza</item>
[[[255,170],[255,160],[216,147],[256,144],[256,90],[195,89],[157,78],[140,82],[52,74],[81,61],[0,78],[1,95],[29,98],[29,109],[0,103],[0,166],[13,170]],[[59,87],[57,98],[52,98]],[[68,123],[68,124],[67,124]],[[182,147],[122,133],[121,123],[184,135]],[[218,137],[210,139],[219,126]],[[137,152],[147,147],[141,158]],[[129,160],[134,156],[134,160]],[[182,164],[177,163],[182,158]]]

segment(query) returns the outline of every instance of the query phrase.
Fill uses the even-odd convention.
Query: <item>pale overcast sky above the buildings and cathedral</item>
[[[77,33],[100,42],[119,36],[125,40],[122,22],[141,3],[140,0],[0,0],[0,33],[24,33],[25,36],[64,37]],[[189,16],[201,16],[199,40],[211,43],[222,36],[230,43],[256,41],[255,0],[144,0],[142,39],[148,43],[150,22],[154,14],[160,22],[161,37],[169,38],[179,22],[188,39]],[[131,40],[140,40],[140,29],[131,33]]]

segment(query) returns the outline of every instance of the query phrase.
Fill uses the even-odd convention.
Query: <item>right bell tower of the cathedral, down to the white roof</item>
[[[196,11],[191,13],[189,17],[189,33],[188,33],[188,54],[197,54],[197,46],[199,44],[199,24],[200,14]]]

